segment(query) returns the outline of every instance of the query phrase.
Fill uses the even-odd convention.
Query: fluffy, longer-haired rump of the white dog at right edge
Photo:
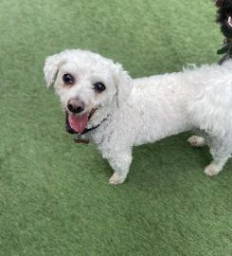
[[[232,61],[187,72],[193,84],[188,113],[192,123],[212,135],[232,131]]]

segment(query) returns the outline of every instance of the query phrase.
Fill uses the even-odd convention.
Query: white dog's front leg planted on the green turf
[[[121,152],[109,157],[108,161],[115,173],[111,176],[109,183],[113,185],[121,184],[127,177],[132,163],[132,152]]]

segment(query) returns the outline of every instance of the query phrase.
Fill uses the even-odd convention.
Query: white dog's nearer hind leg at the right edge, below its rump
[[[223,166],[227,159],[231,156],[232,145],[231,137],[211,138],[210,141],[210,153],[213,157],[213,161],[205,167],[205,174],[213,176],[219,174],[223,170]]]

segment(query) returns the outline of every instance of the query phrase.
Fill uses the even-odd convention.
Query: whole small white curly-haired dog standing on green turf
[[[54,83],[67,130],[94,142],[122,183],[133,146],[199,129],[193,146],[210,148],[205,174],[218,174],[232,153],[232,61],[179,73],[132,79],[120,64],[84,50],[65,50],[45,61],[47,86]]]

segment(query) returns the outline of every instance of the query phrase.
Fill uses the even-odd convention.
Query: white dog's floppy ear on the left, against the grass
[[[47,87],[50,87],[56,79],[59,68],[63,64],[62,54],[55,54],[45,59],[45,82]]]

